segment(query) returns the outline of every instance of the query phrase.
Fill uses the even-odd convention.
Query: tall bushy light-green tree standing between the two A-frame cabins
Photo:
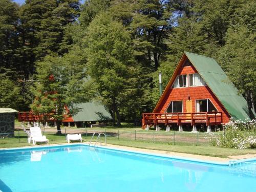
[[[89,74],[96,89],[112,110],[117,125],[121,125],[120,107],[123,97],[133,97],[136,92],[136,70],[130,33],[109,13],[95,17],[87,28],[84,39]]]

